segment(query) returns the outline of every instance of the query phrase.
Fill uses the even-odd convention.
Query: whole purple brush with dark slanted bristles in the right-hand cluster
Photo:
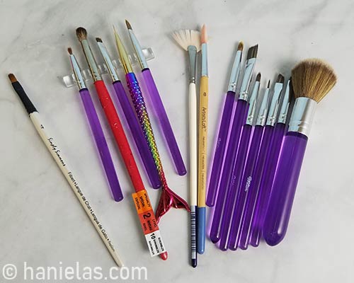
[[[229,183],[236,159],[236,153],[241,137],[241,129],[246,122],[247,111],[249,110],[249,85],[251,76],[256,64],[258,45],[249,49],[246,64],[244,67],[244,77],[242,79],[239,92],[239,99],[236,103],[235,114],[232,119],[231,132],[229,135],[229,144],[227,144],[226,155],[224,158],[224,166],[222,169],[221,180],[219,183],[219,191],[217,195],[217,204],[212,218],[212,228],[210,229],[210,239],[213,243],[217,243],[221,236],[221,219],[224,205],[227,200]]]

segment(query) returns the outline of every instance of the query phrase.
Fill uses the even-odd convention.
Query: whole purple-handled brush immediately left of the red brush
[[[108,144],[105,140],[105,135],[103,134],[103,129],[101,127],[100,120],[98,119],[95,106],[93,105],[89,89],[86,88],[79,64],[77,63],[74,54],[72,54],[72,48],[68,48],[68,52],[70,62],[72,64],[72,69],[74,71],[76,83],[79,87],[80,98],[82,104],[84,105],[86,117],[89,121],[91,132],[93,134],[93,139],[96,142],[98,153],[101,157],[101,161],[105,170],[105,175],[107,176],[108,183],[110,185],[110,190],[112,192],[113,199],[116,202],[119,202],[123,199],[122,190],[120,189],[117,173],[115,173],[112,156],[110,156],[110,150],[108,149]]]

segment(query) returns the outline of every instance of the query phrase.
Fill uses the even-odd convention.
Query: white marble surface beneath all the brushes
[[[239,40],[245,47],[259,44],[256,71],[262,72],[262,86],[278,72],[288,77],[292,66],[306,57],[333,65],[338,84],[316,112],[290,227],[279,246],[263,243],[223,253],[207,241],[193,270],[188,263],[188,214],[173,209],[160,225],[169,260],[149,257],[130,198],[132,185],[107,125],[125,192],[121,203],[110,199],[76,88],[65,88],[58,79],[70,69],[67,47],[85,65],[75,28],[84,26],[92,43],[101,36],[115,52],[111,26],[115,23],[125,34],[125,18],[142,45],[154,49],[156,59],[149,66],[185,161],[186,54],[171,40],[173,30],[206,23],[210,33],[210,144]],[[7,74],[13,72],[55,132],[126,264],[146,266],[149,282],[353,282],[353,18],[350,0],[0,1],[0,267],[24,261],[33,267],[76,261],[103,269],[113,265],[8,83]],[[188,178],[176,175],[161,134],[155,132],[171,187],[188,197]],[[159,192],[148,190],[156,205]],[[23,282],[21,271],[18,276],[16,282]]]

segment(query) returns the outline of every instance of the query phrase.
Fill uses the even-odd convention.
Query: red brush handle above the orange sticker
[[[130,179],[134,185],[135,191],[144,190],[144,184],[142,183],[142,177],[140,176],[139,170],[137,168],[137,163],[135,162],[134,156],[132,155],[132,150],[125,136],[124,129],[120,123],[117,111],[115,110],[114,104],[105,83],[103,81],[96,81],[94,83],[98,98],[101,101],[102,108],[105,112],[105,117],[107,118],[110,129],[112,129],[115,141],[118,144],[120,154],[124,160],[127,171],[130,175]]]

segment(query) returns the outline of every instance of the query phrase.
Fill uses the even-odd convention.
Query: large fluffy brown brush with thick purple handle
[[[296,100],[263,226],[263,237],[270,246],[285,237],[314,111],[335,84],[333,69],[319,59],[306,59],[292,69]]]

